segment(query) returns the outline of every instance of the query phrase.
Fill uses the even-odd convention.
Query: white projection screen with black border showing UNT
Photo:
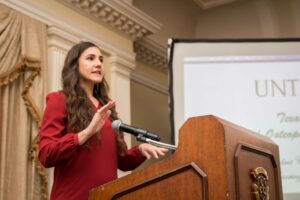
[[[169,41],[174,143],[192,116],[215,115],[279,145],[284,199],[300,199],[300,39]]]

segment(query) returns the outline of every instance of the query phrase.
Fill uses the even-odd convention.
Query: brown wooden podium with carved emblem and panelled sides
[[[218,117],[190,118],[171,157],[90,192],[102,199],[281,200],[279,149]]]

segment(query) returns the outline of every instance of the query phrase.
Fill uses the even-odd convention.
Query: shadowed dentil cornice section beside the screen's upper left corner
[[[168,72],[167,48],[151,39],[144,38],[134,42],[134,51],[138,61],[149,64],[164,73]]]

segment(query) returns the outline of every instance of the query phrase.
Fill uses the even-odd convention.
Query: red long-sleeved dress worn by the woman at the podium
[[[39,159],[45,167],[55,167],[52,200],[86,200],[93,187],[117,178],[117,168],[132,170],[145,160],[137,147],[128,150],[126,156],[118,156],[110,120],[100,131],[101,140],[94,135],[89,147],[79,145],[77,133],[67,129],[65,95],[50,93],[46,101]]]

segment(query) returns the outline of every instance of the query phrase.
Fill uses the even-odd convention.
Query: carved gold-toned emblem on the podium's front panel
[[[269,200],[268,173],[263,167],[252,169],[251,177],[253,179],[252,194],[255,200]]]

